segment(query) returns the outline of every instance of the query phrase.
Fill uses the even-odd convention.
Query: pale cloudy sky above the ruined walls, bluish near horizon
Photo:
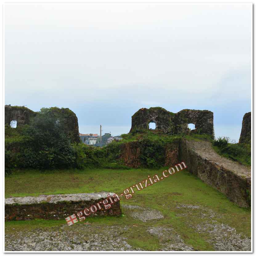
[[[252,5],[5,5],[5,104],[70,108],[80,133],[128,133],[140,108],[251,111]]]

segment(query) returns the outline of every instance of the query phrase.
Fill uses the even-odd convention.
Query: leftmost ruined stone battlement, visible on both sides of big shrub
[[[69,108],[50,108],[51,112],[60,114],[64,120],[64,129],[67,135],[71,138],[71,142],[80,142],[78,119],[73,111]],[[26,107],[5,105],[5,124],[9,124],[12,120],[17,121],[18,125],[29,124],[31,118],[36,116],[34,112]]]

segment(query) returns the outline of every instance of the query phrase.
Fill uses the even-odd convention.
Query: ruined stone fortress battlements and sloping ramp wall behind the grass
[[[64,129],[72,142],[80,142],[78,119],[69,108],[50,108],[64,119]],[[16,122],[17,126],[29,124],[37,115],[26,107],[5,106],[5,124]],[[132,116],[130,133],[135,134],[149,129],[149,123],[156,124],[155,131],[168,135],[208,134],[214,136],[213,112],[208,110],[183,109],[177,113],[164,108],[141,108]],[[190,130],[188,124],[194,124]],[[250,143],[251,113],[246,113],[242,122],[239,143]],[[140,140],[120,144],[119,159],[124,165],[137,168],[141,166],[141,152],[144,144]],[[215,187],[233,202],[241,207],[250,205],[250,168],[234,163],[217,155],[209,141],[187,140],[179,136],[165,146],[164,166],[175,165],[179,158],[185,161],[189,172],[199,177],[203,182]]]

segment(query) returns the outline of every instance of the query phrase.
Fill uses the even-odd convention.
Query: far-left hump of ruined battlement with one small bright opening
[[[9,124],[12,120],[17,121],[18,125],[29,124],[30,118],[35,116],[36,112],[26,107],[5,105],[4,124]]]

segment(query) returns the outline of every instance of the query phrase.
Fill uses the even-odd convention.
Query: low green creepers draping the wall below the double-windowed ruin
[[[87,146],[85,144],[73,144],[76,152],[76,167],[104,167],[125,168],[121,159],[122,144],[137,141],[140,147],[140,163],[143,167],[156,168],[164,166],[165,148],[168,143],[178,143],[179,136],[167,136],[144,131],[131,135],[122,134],[123,140],[113,141],[103,148]],[[137,145],[137,144],[136,144]]]

